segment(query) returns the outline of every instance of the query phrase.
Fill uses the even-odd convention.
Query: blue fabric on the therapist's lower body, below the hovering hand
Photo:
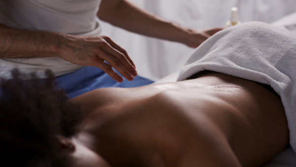
[[[117,74],[119,73],[117,72]],[[101,69],[88,66],[73,73],[59,76],[56,78],[56,82],[58,88],[66,90],[70,99],[102,87],[138,87],[153,83],[153,81],[140,76],[135,77],[133,81],[123,79],[122,83],[117,83]]]

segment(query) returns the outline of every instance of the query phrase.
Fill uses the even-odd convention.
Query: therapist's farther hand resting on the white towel
[[[195,48],[221,30],[222,28],[211,28],[206,30],[188,30],[188,37],[186,38],[184,43],[189,47]]]

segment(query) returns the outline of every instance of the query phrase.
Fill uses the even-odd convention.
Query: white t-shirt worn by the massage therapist
[[[101,0],[0,0],[0,23],[20,29],[60,32],[77,36],[99,36],[96,13]],[[56,76],[82,68],[58,57],[0,59],[0,77],[9,78],[10,70],[35,71],[43,78],[45,69]]]

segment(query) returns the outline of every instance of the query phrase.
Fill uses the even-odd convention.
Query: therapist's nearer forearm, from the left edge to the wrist
[[[0,24],[0,58],[56,56],[57,36],[50,32],[10,28]]]

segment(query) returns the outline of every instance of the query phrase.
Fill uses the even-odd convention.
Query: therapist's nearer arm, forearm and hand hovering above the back
[[[95,66],[117,82],[122,82],[122,78],[111,67],[130,81],[137,75],[126,51],[108,37],[77,37],[14,29],[0,24],[0,58],[37,57],[60,57],[74,64]]]

